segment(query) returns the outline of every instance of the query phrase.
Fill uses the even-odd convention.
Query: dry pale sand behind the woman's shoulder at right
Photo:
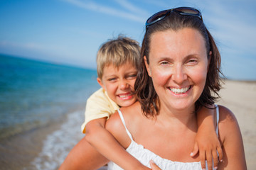
[[[225,81],[218,104],[235,114],[242,132],[247,169],[256,166],[256,81]]]

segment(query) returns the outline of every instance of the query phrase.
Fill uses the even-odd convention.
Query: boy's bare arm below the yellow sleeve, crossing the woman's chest
[[[91,120],[86,125],[86,140],[100,154],[123,169],[149,169],[126,152],[114,136],[105,129],[106,118]]]

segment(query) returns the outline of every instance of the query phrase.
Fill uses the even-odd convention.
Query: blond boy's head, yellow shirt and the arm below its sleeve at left
[[[131,165],[136,169],[136,164],[140,166],[142,164],[119,146],[110,132],[105,130],[105,123],[119,107],[130,106],[137,101],[134,83],[137,77],[139,53],[139,43],[124,37],[109,40],[100,47],[97,52],[97,82],[102,89],[88,98],[85,123],[81,127],[82,132],[86,132],[85,139],[105,157],[113,162],[126,160],[125,164],[122,161],[119,163],[123,164],[124,169]],[[115,148],[118,157],[113,154],[112,148]]]

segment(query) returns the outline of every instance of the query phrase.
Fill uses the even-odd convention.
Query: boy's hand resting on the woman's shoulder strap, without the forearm
[[[210,133],[208,130],[198,131],[191,157],[194,157],[198,151],[202,169],[206,169],[206,160],[209,170],[217,169],[218,160],[222,162],[223,151],[216,133]]]

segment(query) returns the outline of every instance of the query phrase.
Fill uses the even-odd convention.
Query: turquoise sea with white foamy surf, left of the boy
[[[100,88],[96,77],[92,69],[0,55],[0,142],[68,116],[65,128],[46,137],[41,153],[31,163],[35,169],[58,168],[67,148],[78,142],[69,135],[73,129],[67,127],[80,131],[84,111],[76,108],[85,106],[87,98]],[[53,159],[57,155],[60,158]]]

